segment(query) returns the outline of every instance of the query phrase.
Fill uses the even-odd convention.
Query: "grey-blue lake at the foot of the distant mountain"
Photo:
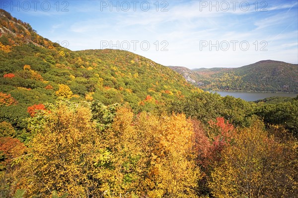
[[[213,92],[214,93],[214,92]],[[216,92],[221,96],[232,96],[235,98],[244,99],[246,101],[256,101],[258,99],[265,99],[269,97],[293,97],[295,98],[298,94],[293,93],[262,93],[262,92]]]

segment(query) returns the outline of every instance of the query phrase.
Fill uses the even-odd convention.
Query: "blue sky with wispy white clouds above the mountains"
[[[71,50],[123,49],[165,66],[298,63],[298,0],[0,0]]]

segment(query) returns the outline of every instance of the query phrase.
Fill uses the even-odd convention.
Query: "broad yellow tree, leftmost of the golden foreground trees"
[[[109,152],[100,143],[90,109],[61,103],[43,121],[37,119],[25,171],[33,175],[25,186],[28,195],[46,197],[57,190],[74,198],[100,197]]]

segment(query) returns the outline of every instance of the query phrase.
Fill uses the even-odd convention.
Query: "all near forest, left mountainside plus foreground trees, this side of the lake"
[[[295,198],[297,138],[298,96],[221,97],[0,10],[0,197]]]

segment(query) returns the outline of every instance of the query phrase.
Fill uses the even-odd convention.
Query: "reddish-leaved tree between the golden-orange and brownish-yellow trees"
[[[216,121],[209,121],[206,129],[198,120],[192,120],[194,127],[194,152],[196,163],[202,170],[203,178],[199,180],[199,192],[210,194],[207,181],[211,179],[211,172],[215,164],[222,160],[222,152],[233,142],[235,129],[232,124],[225,121],[223,117],[216,118]]]

